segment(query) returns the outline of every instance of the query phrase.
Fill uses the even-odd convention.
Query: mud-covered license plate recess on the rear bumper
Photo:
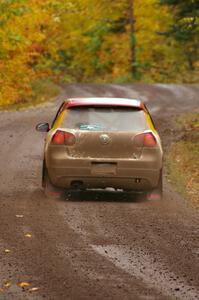
[[[116,175],[117,163],[92,162],[91,174],[95,175]]]

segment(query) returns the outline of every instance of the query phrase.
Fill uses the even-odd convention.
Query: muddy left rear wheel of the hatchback
[[[63,188],[58,188],[52,184],[50,177],[48,175],[48,171],[45,167],[45,164],[43,166],[42,186],[44,188],[44,194],[47,198],[52,198],[52,199],[65,198],[66,190]]]

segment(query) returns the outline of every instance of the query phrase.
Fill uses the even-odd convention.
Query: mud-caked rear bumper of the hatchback
[[[113,187],[125,190],[147,190],[157,187],[161,160],[103,159],[104,167],[96,168],[94,159],[49,159],[46,162],[52,183],[71,188],[79,183],[84,188]],[[110,167],[109,167],[110,164]],[[107,167],[107,166],[108,167]]]

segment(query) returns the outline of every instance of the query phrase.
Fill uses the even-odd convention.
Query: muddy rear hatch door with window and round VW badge
[[[140,109],[86,106],[68,109],[62,126],[76,136],[69,156],[103,161],[138,157],[142,148],[134,137],[147,129],[147,122]]]

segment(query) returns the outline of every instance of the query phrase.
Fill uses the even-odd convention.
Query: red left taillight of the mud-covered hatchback
[[[75,141],[76,138],[71,132],[57,130],[52,137],[51,144],[73,146]]]

